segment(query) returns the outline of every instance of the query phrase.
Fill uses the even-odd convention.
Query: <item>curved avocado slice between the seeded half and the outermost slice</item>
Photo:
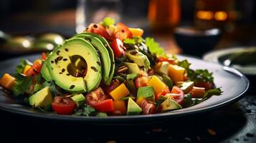
[[[110,56],[108,54],[108,50],[105,48],[103,43],[95,36],[91,36],[89,34],[80,34],[75,37],[85,39],[86,41],[90,42],[90,44],[92,44],[96,50],[98,50],[98,53],[100,54],[100,61],[103,64],[103,80],[105,83],[108,82],[111,61]]]

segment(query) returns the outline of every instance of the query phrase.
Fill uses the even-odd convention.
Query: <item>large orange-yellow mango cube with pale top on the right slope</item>
[[[168,76],[171,77],[173,82],[183,82],[184,81],[184,71],[185,69],[181,66],[169,64]]]

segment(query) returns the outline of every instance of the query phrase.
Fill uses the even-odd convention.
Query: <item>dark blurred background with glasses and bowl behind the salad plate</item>
[[[111,16],[144,29],[144,36],[153,36],[168,53],[202,57],[214,49],[255,45],[255,8],[254,0],[1,0],[0,56],[6,59],[52,49],[40,41],[52,38],[44,34],[56,33],[65,39],[90,22]],[[40,42],[12,49],[6,37],[16,35]]]

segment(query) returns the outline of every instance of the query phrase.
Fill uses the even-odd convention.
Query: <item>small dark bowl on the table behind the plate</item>
[[[174,39],[184,54],[202,56],[217,45],[221,31],[219,29],[196,29],[181,26],[174,30]]]

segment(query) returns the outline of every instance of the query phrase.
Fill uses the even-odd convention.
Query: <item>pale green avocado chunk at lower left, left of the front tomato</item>
[[[49,87],[44,87],[44,89],[39,90],[29,97],[29,104],[33,107],[47,107],[52,102],[53,99]]]

